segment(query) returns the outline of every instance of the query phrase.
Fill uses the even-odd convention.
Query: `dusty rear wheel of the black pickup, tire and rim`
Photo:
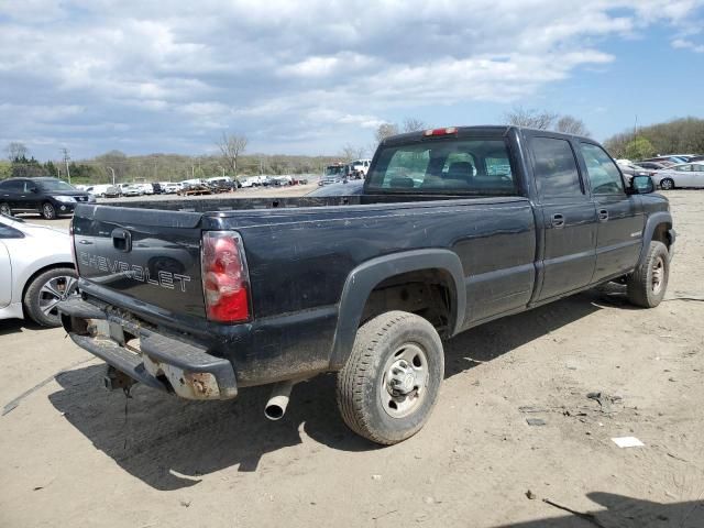
[[[410,364],[398,366],[408,359]],[[352,353],[338,374],[338,406],[350,429],[391,446],[422,428],[443,376],[444,352],[432,324],[414,314],[389,311],[358,330]],[[403,383],[397,383],[399,377]],[[392,394],[392,386],[405,389],[405,395]]]

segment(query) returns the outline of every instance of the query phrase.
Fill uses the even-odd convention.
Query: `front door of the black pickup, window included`
[[[618,167],[601,146],[581,142],[582,163],[596,206],[596,267],[592,283],[629,272],[636,266],[645,216],[640,198],[628,196]]]

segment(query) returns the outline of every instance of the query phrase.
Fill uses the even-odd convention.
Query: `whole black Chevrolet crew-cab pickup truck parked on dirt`
[[[428,419],[442,339],[619,280],[654,307],[674,231],[647,176],[627,187],[586,138],[515,127],[389,138],[363,193],[79,205],[80,297],[61,306],[111,388],[193,399],[338,372],[355,432],[391,444]]]

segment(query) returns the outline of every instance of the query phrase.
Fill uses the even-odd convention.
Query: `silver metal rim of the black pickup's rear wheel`
[[[392,418],[404,418],[424,402],[428,387],[428,355],[416,343],[404,343],[386,361],[380,403]]]

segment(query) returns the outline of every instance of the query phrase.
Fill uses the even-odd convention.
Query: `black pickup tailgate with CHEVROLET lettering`
[[[198,212],[79,205],[78,274],[173,314],[205,316]]]

